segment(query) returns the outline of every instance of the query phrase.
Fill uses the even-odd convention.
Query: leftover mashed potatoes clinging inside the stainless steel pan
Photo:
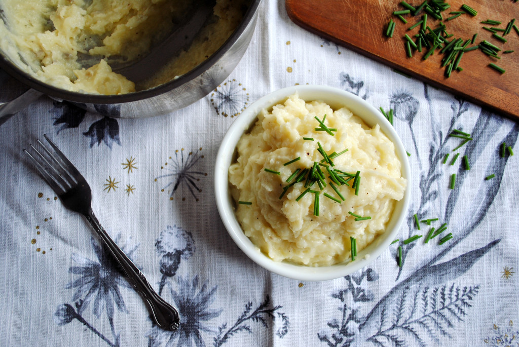
[[[126,77],[113,72],[107,60],[133,61],[143,57],[189,16],[195,3],[2,0],[0,48],[24,72],[58,88],[93,94],[152,88],[192,70],[220,48],[240,23],[244,1],[217,1],[215,17],[191,48],[137,88]]]

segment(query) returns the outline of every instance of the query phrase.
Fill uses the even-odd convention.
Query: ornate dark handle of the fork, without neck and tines
[[[92,210],[90,210],[88,214],[85,214],[85,217],[95,231],[97,231],[108,249],[110,249],[110,252],[128,276],[128,279],[135,290],[137,290],[137,292],[139,292],[148,303],[149,309],[152,312],[153,321],[162,329],[175,330],[179,328],[179,311],[162,299],[155,290],[153,290],[141,270],[135,266],[124,252],[122,252],[110,235],[108,235],[108,233],[103,229]]]

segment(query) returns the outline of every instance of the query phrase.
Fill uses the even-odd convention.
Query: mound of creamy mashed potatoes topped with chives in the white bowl
[[[325,117],[333,136],[315,130],[322,128],[316,116]],[[319,171],[311,170],[314,165],[325,177],[322,188],[316,178]],[[293,184],[298,169],[298,174],[306,174]],[[310,177],[306,184],[312,171],[314,179]],[[357,171],[358,195],[350,178]],[[407,181],[401,176],[393,143],[378,124],[370,128],[346,107],[334,111],[325,103],[306,103],[292,95],[272,112],[264,110],[241,137],[237,160],[229,168],[229,184],[242,229],[262,252],[276,261],[328,266],[349,258],[350,236],[357,239],[361,251],[384,233]],[[348,212],[371,219],[355,221]]]

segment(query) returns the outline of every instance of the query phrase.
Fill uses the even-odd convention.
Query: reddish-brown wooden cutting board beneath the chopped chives
[[[384,0],[285,0],[286,11],[290,19],[304,29],[320,35],[335,43],[357,51],[369,58],[389,65],[405,74],[421,79],[431,86],[438,87],[459,95],[493,112],[519,120],[519,34],[512,29],[506,35],[506,43],[493,38],[492,33],[482,29],[482,21],[493,19],[501,21],[495,27],[505,28],[508,22],[516,18],[519,25],[519,2],[513,0],[466,0],[448,1],[449,9],[442,12],[446,19],[450,11],[459,11],[467,4],[477,11],[472,17],[463,14],[450,21],[445,21],[447,33],[452,38],[471,39],[477,33],[475,44],[482,40],[513,53],[499,54],[501,59],[491,58],[481,50],[465,52],[459,63],[461,72],[452,72],[445,77],[445,68],[440,68],[443,54],[436,50],[427,60],[422,60],[426,50],[415,51],[408,58],[405,50],[404,35],[418,33],[419,27],[407,29],[421,20],[421,15],[404,15],[407,24],[393,16],[395,10],[405,9],[400,1]],[[421,0],[407,0],[418,6]],[[428,16],[427,24],[434,29],[439,21]],[[385,36],[389,20],[393,18],[396,27],[392,38]],[[451,38],[451,39],[452,39]],[[468,47],[473,46],[469,45]],[[501,51],[501,52],[502,52]],[[488,67],[489,63],[504,68],[504,74]]]

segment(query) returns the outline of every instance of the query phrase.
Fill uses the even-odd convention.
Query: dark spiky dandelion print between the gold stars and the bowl
[[[196,184],[197,181],[200,181],[200,176],[207,176],[207,173],[203,173],[201,171],[194,170],[194,166],[198,163],[198,161],[203,158],[203,155],[198,154],[198,150],[196,152],[189,152],[186,156],[184,154],[184,149],[175,151],[175,158],[170,157],[171,162],[167,162],[166,165],[162,166],[162,168],[167,168],[169,173],[160,175],[155,178],[157,182],[159,178],[169,178],[171,181],[162,188],[162,191],[166,190],[166,188],[173,186],[173,189],[170,193],[170,199],[173,199],[173,196],[176,190],[181,186],[185,186],[191,195],[198,201],[198,197],[195,191],[202,191]]]

